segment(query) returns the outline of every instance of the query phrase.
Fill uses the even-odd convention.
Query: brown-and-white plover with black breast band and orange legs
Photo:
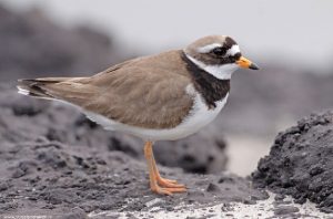
[[[153,144],[184,138],[210,124],[224,107],[231,75],[240,67],[259,70],[231,36],[208,35],[92,76],[24,79],[17,87],[20,94],[71,104],[107,131],[141,138],[150,189],[173,195],[186,186],[160,175]]]

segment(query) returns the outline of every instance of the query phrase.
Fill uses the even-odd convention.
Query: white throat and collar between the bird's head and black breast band
[[[195,60],[191,55],[186,54],[186,58],[191,60],[194,64],[196,64],[200,69],[204,70],[205,72],[210,73],[214,77],[219,80],[230,80],[231,75],[234,71],[239,69],[239,65],[235,63],[229,63],[229,64],[221,64],[221,65],[208,65],[203,62]]]

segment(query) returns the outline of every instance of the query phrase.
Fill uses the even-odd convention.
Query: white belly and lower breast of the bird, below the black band
[[[194,105],[193,108],[190,111],[189,116],[185,117],[185,119],[174,128],[141,128],[118,123],[115,121],[109,119],[104,116],[91,112],[85,112],[85,115],[91,121],[94,121],[95,123],[102,125],[105,129],[128,133],[138,136],[143,140],[174,140],[194,134],[199,129],[211,123],[225,105],[228,95],[229,94],[226,94],[226,96],[220,102],[216,102],[215,108],[209,109],[201,95],[196,93],[194,97]]]

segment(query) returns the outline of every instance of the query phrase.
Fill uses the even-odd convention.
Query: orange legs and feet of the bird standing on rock
[[[186,188],[183,185],[176,184],[175,180],[161,177],[153,156],[151,142],[144,144],[144,156],[149,168],[150,188],[152,191],[163,195],[186,191]]]

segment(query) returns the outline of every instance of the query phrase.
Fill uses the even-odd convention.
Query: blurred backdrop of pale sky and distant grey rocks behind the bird
[[[261,70],[233,75],[229,103],[204,135],[223,136],[223,168],[245,176],[280,131],[332,108],[332,11],[330,0],[0,0],[0,80],[91,75],[231,35]]]

